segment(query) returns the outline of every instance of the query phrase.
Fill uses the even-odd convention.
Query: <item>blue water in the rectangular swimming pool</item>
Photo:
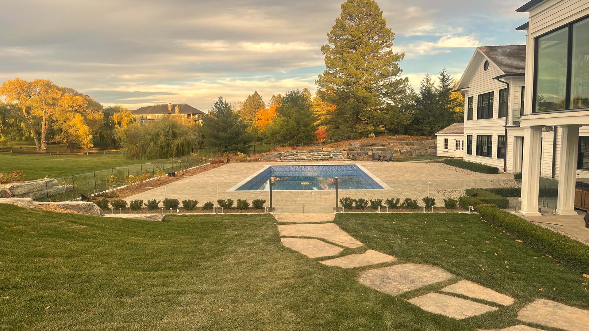
[[[362,169],[353,164],[345,166],[270,166],[257,174],[237,191],[268,190],[268,178],[272,177],[273,190],[334,190],[337,177],[340,190],[382,190]]]

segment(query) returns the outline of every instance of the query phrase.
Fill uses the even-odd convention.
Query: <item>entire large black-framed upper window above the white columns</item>
[[[589,107],[589,18],[535,38],[532,112]]]

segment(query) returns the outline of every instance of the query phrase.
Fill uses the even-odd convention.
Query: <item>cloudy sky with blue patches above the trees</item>
[[[0,82],[44,78],[103,106],[187,103],[209,110],[258,91],[316,90],[320,47],[343,0],[19,0],[0,20]],[[459,78],[475,47],[524,44],[524,0],[379,0],[418,86]]]

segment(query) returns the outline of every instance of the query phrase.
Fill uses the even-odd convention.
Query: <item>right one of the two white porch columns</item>
[[[577,215],[575,208],[575,178],[577,178],[577,148],[579,125],[562,125],[560,164],[558,167],[557,214]]]

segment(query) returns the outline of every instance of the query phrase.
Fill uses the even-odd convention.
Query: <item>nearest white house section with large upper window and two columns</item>
[[[517,11],[530,13],[518,28],[527,32],[529,87],[520,121],[525,152],[521,212],[541,215],[538,174],[550,172],[558,180],[556,212],[576,214],[575,184],[589,181],[583,178],[589,177],[589,0],[532,0]],[[547,145],[554,153],[546,153]]]

